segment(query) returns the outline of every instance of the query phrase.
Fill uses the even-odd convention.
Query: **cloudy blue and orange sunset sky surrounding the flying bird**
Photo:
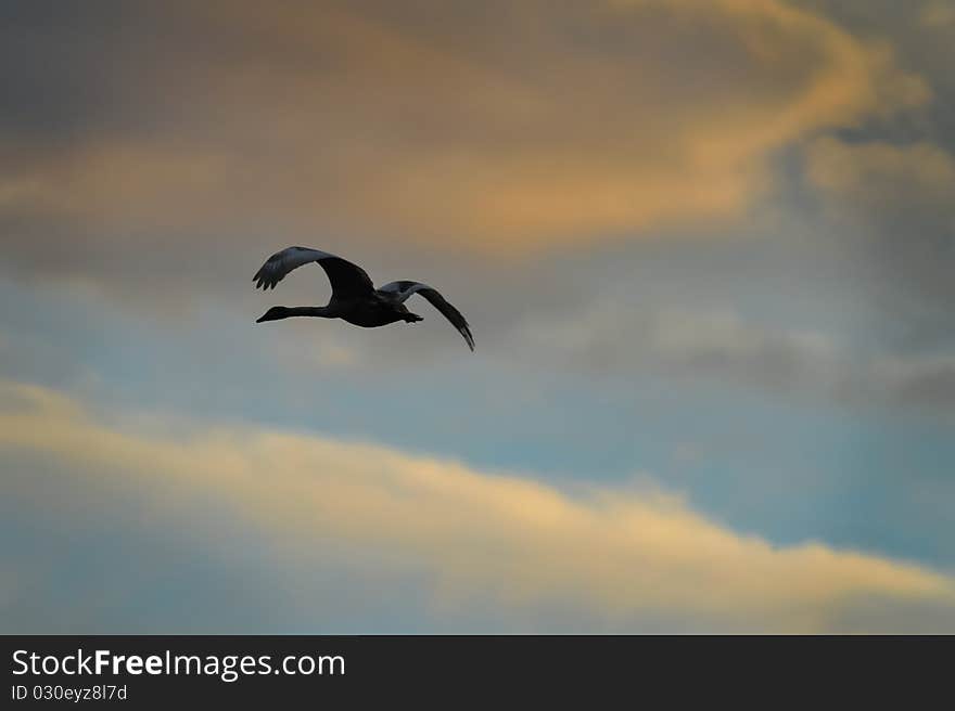
[[[953,48],[952,0],[0,0],[0,631],[955,632]],[[476,351],[256,324],[328,299],[254,289],[289,245]]]

